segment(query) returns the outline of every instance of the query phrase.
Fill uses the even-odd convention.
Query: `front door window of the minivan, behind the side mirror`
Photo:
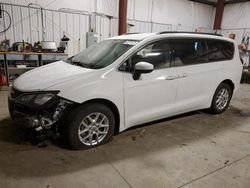
[[[154,65],[154,69],[170,67],[171,50],[167,41],[160,41],[147,45],[131,58],[132,70],[134,65],[145,61]]]

